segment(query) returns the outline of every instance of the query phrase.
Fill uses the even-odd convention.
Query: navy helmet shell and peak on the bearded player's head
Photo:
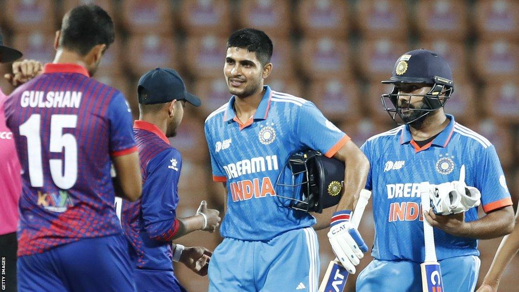
[[[394,64],[391,78],[382,83],[422,83],[453,86],[449,64],[438,54],[425,49],[406,52]]]

